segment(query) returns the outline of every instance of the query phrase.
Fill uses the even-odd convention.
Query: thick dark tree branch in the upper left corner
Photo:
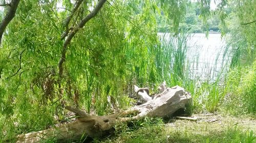
[[[5,32],[7,25],[12,20],[12,18],[15,16],[19,1],[20,0],[12,0],[10,4],[6,4],[6,5],[9,5],[10,8],[9,8],[5,18],[0,23],[0,44],[1,44],[2,37],[3,37],[3,34]]]

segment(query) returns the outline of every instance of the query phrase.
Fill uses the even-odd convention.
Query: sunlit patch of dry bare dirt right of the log
[[[252,130],[256,132],[255,118],[248,116],[233,117],[225,116],[219,113],[195,114],[191,118],[197,121],[189,120],[170,120],[165,124],[167,127],[174,127],[178,130],[202,131],[202,133],[222,132],[224,129],[237,127],[240,130]]]

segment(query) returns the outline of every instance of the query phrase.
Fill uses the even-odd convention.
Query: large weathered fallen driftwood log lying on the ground
[[[91,116],[82,110],[66,106],[66,109],[79,116],[77,121],[47,130],[18,135],[17,142],[39,142],[49,138],[55,138],[58,142],[67,142],[79,140],[82,136],[103,136],[112,132],[118,123],[126,123],[145,117],[172,116],[178,109],[184,109],[191,100],[191,95],[179,86],[165,88],[164,83],[160,91],[162,91],[160,94],[152,98],[148,95],[149,90],[147,88],[137,87],[135,92],[147,102],[108,116]]]

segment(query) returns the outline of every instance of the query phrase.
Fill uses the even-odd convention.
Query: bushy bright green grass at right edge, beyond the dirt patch
[[[234,115],[256,113],[256,60],[251,66],[232,69],[226,77],[229,87],[225,100],[226,112]]]

